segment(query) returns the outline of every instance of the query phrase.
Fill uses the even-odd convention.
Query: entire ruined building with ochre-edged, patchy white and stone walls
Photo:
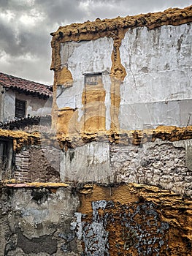
[[[191,22],[192,6],[52,33],[52,127],[15,139],[49,179],[2,186],[2,255],[191,255]]]

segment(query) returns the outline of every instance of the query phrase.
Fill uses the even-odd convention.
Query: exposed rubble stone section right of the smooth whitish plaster
[[[192,170],[186,163],[186,158],[191,157],[188,143],[191,145],[191,140],[180,144],[157,140],[142,147],[112,145],[111,164],[117,181],[160,186],[191,196]]]

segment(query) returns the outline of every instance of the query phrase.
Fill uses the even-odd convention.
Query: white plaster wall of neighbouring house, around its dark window
[[[14,120],[15,118],[15,98],[26,101],[26,116],[45,116],[51,113],[52,98],[39,99],[31,95],[19,94],[8,90],[4,94],[4,118],[3,121]]]

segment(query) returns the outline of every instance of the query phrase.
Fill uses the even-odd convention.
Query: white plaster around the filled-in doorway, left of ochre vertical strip
[[[110,129],[110,70],[112,67],[112,38],[99,38],[92,41],[66,42],[61,44],[61,67],[68,67],[74,80],[73,86],[62,89],[58,86],[58,108],[78,108],[82,116],[82,91],[84,73],[104,72],[103,83],[106,90],[107,129]],[[63,91],[62,91],[63,90]]]

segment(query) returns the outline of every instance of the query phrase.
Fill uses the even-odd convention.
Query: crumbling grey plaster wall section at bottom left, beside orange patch
[[[71,189],[5,189],[1,202],[0,219],[7,217],[1,223],[1,255],[67,255],[62,246],[65,235],[74,240],[70,222],[78,204]],[[75,240],[69,244],[77,252]]]

